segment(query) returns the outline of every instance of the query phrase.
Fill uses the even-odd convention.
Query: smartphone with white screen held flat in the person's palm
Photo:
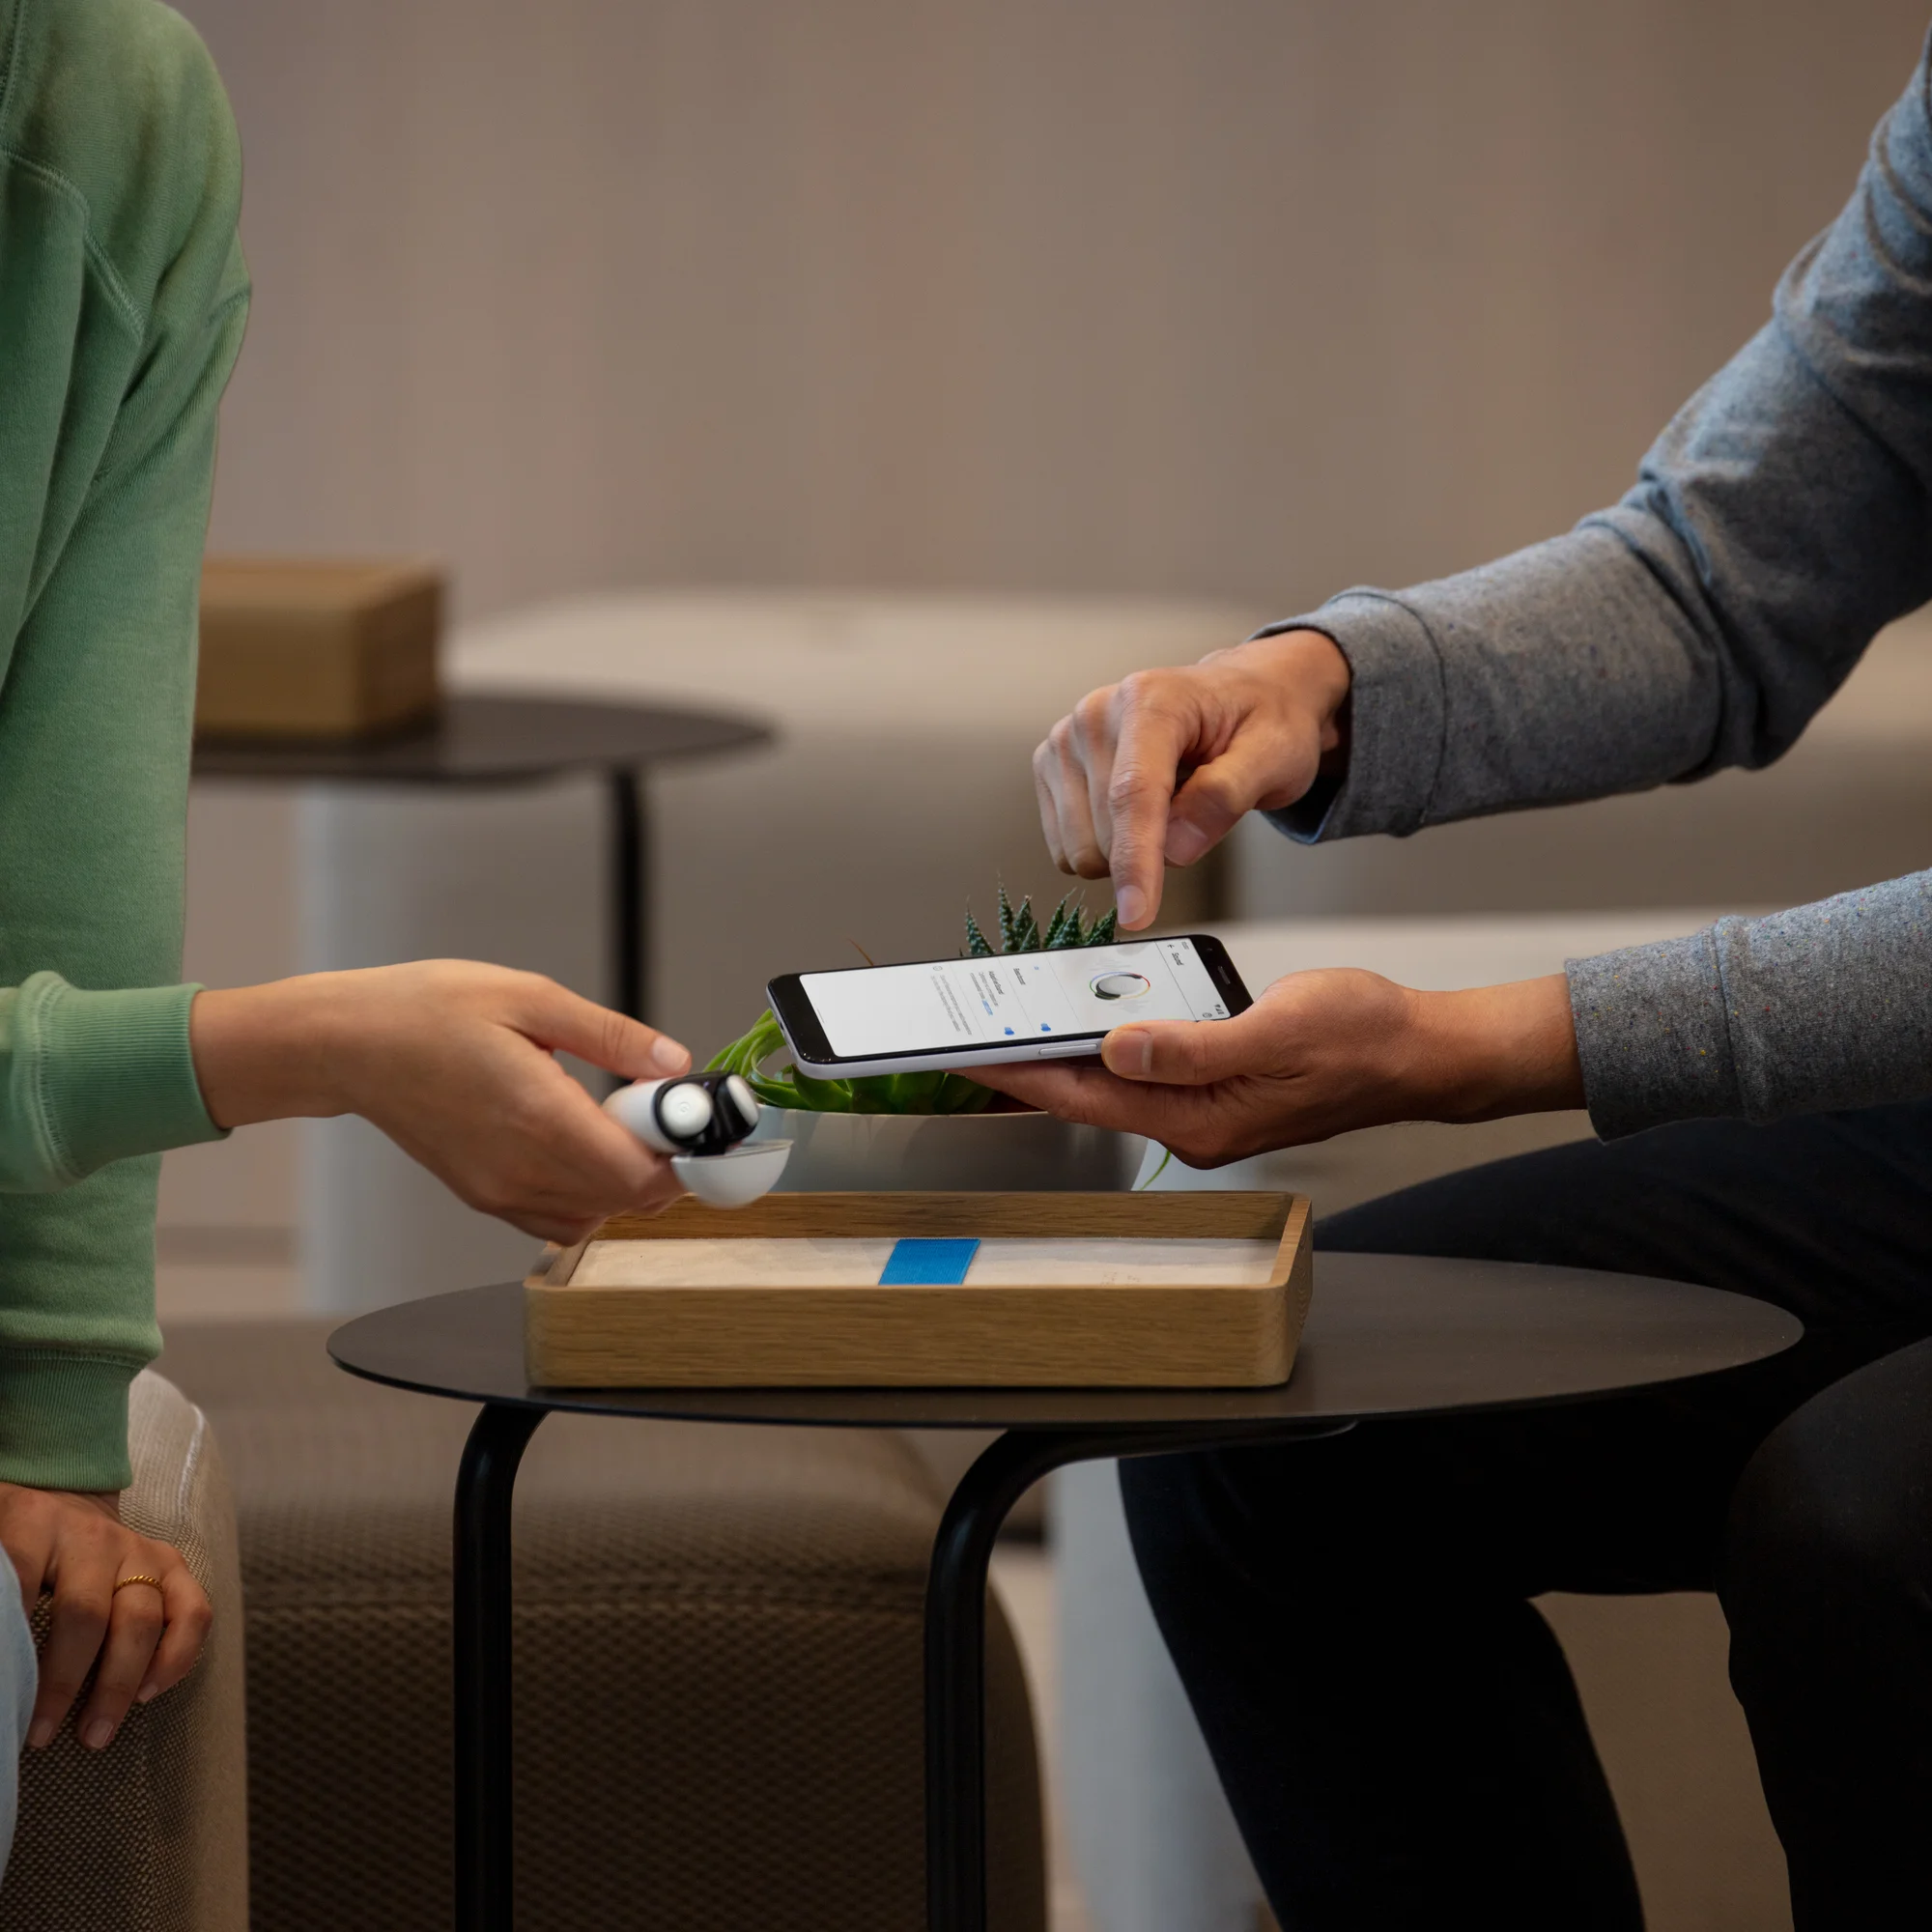
[[[1053,1061],[1099,1051],[1128,1020],[1227,1020],[1254,1005],[1211,933],[790,972],[765,991],[815,1080]]]

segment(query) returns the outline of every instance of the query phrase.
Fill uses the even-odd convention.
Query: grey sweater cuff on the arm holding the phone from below
[[[1590,1124],[1604,1140],[1745,1111],[1710,931],[1565,960]]]

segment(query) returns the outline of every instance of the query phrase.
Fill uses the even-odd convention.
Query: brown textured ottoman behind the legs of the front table
[[[255,1932],[450,1917],[450,1501],[473,1408],[327,1323],[170,1335],[234,1472]],[[553,1416],[518,1482],[518,1924],[914,1932],[925,1559],[891,1435]],[[1045,1918],[1032,1714],[991,1642],[993,1926]]]

